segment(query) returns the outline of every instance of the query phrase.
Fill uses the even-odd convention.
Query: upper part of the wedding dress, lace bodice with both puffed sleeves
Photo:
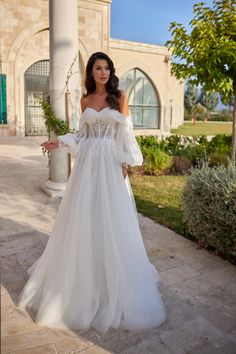
[[[110,107],[101,111],[87,107],[81,114],[79,132],[61,135],[58,140],[73,156],[108,156],[111,152],[120,163],[140,166],[143,162],[131,117]]]

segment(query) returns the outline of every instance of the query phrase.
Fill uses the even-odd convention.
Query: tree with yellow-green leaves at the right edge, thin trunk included
[[[213,0],[194,5],[194,17],[187,33],[182,24],[172,22],[172,39],[166,45],[174,58],[171,72],[177,79],[201,84],[206,91],[234,96],[232,159],[236,154],[236,1]]]

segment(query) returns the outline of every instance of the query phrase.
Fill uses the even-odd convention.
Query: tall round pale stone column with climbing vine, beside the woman
[[[77,0],[49,1],[50,33],[50,103],[56,115],[66,120],[66,92],[71,101],[70,126],[78,127],[79,65]],[[53,133],[50,139],[55,139]],[[69,177],[70,159],[65,148],[51,152],[49,180],[46,191],[50,196],[63,194]]]

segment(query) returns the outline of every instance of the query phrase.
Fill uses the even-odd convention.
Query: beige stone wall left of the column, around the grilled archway
[[[35,61],[49,57],[45,31],[48,28],[48,2],[0,1],[0,12],[2,71],[7,75],[8,124],[4,127],[4,134],[20,135],[23,134],[21,113],[24,113],[23,70]]]

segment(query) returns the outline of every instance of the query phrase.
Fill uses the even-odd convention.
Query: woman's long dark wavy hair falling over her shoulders
[[[90,95],[96,90],[96,84],[95,80],[92,76],[92,70],[94,63],[97,59],[103,59],[106,60],[109,66],[110,70],[110,76],[109,80],[105,84],[106,91],[108,93],[106,97],[106,101],[109,104],[111,108],[114,109],[119,109],[119,101],[118,99],[121,96],[121,91],[118,89],[119,85],[119,79],[115,75],[115,68],[112,60],[109,58],[109,56],[103,52],[96,52],[91,55],[91,57],[88,60],[87,66],[86,66],[86,71],[85,71],[85,88],[87,90],[87,93],[84,94],[84,97]]]

